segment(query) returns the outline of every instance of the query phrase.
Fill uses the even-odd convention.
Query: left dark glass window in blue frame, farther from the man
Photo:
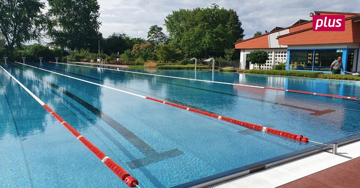
[[[314,50],[290,50],[289,69],[312,70]]]

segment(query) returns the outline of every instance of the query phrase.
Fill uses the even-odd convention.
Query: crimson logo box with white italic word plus
[[[345,15],[314,15],[312,31],[345,31]]]

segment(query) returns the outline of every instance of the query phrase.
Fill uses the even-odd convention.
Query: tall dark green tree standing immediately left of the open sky
[[[51,44],[62,49],[97,52],[101,22],[98,21],[100,5],[97,0],[48,0],[51,18],[47,35]]]

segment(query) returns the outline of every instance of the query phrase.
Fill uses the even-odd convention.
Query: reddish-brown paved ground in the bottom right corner
[[[360,157],[295,180],[280,188],[359,188]]]

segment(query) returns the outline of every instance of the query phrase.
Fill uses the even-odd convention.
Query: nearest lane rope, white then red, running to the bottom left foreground
[[[0,66],[1,67],[1,66]],[[123,180],[129,187],[139,187],[139,182],[134,177],[124,170],[120,165],[116,164],[110,157],[105,155],[99,148],[82,136],[76,129],[74,129],[70,124],[68,124],[62,117],[60,117],[56,112],[54,112],[48,105],[42,102],[41,99],[36,97],[29,89],[27,89],[20,81],[18,81],[13,75],[1,67],[12,79],[14,79],[23,89],[25,89],[37,102],[40,103],[42,107],[46,109],[52,116],[54,116],[60,124],[66,127],[82,144],[84,144],[91,152],[94,153],[110,170],[113,171],[121,180]]]

